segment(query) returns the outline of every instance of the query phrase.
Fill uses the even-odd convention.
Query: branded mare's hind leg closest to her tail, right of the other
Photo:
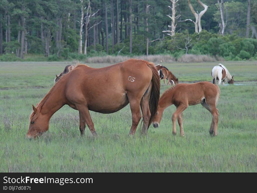
[[[142,115],[143,115],[143,128],[142,128],[142,134],[146,134],[147,133],[147,129],[148,129],[148,125],[149,125],[149,120],[151,117],[151,112],[150,112],[150,108],[149,108],[149,96],[150,96],[150,90],[151,90],[152,86],[149,86],[148,88],[148,92],[145,93],[145,95],[142,97],[141,102],[140,102],[140,107],[142,110]]]

